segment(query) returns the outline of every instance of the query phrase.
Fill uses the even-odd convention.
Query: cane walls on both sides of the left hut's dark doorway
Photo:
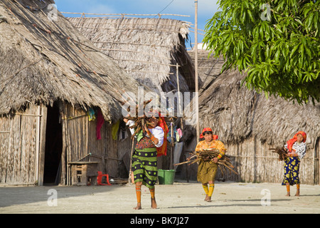
[[[11,118],[0,116],[0,185],[43,184],[46,106],[30,105]],[[97,140],[97,119],[68,103],[59,105],[63,123],[63,152],[60,183],[70,185],[68,162],[99,162],[98,170],[118,177],[121,157],[131,150],[131,141],[112,139],[110,123],[103,123]],[[121,152],[118,152],[121,145]],[[120,158],[119,158],[120,155]]]

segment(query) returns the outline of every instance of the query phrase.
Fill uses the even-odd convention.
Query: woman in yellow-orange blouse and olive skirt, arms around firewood
[[[201,151],[208,149],[216,149],[220,152],[218,157],[213,157],[211,159],[209,157],[204,157],[198,164],[198,182],[202,183],[203,190],[206,192],[205,201],[211,202],[211,196],[213,195],[215,187],[215,175],[218,170],[217,163],[218,160],[225,155],[225,146],[223,145],[223,142],[217,140],[218,135],[213,135],[211,128],[203,128],[200,138],[204,138],[204,140],[200,141],[196,146],[196,152],[199,152],[199,155],[201,155]]]

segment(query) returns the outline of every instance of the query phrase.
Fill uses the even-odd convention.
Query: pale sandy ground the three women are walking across
[[[300,197],[295,192],[292,187],[292,197],[284,197],[280,184],[215,182],[213,201],[205,202],[200,183],[181,181],[156,185],[158,209],[150,208],[149,190],[143,186],[142,209],[134,210],[134,185],[0,187],[0,214],[320,213],[320,185],[301,185]]]

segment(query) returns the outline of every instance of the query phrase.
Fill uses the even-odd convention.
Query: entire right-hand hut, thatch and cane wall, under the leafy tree
[[[281,182],[283,164],[269,148],[283,146],[303,130],[307,154],[300,167],[302,183],[319,184],[320,104],[298,105],[282,98],[266,98],[240,86],[238,71],[225,71],[199,97],[201,130],[213,129],[227,147],[239,176],[229,180]],[[196,130],[185,126],[188,150],[196,147]]]

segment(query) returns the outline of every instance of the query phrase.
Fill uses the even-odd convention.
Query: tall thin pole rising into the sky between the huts
[[[195,40],[195,50],[194,50],[194,70],[196,78],[196,131],[197,131],[197,144],[199,142],[200,136],[200,127],[199,127],[199,88],[198,88],[198,0],[194,1],[195,4],[195,31],[194,31],[194,40]]]

